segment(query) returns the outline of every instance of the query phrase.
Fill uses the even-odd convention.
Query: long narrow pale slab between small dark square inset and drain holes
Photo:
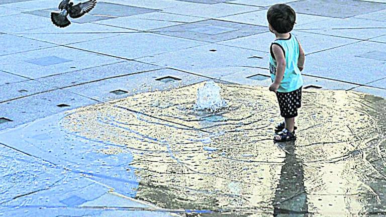
[[[160,69],[160,67],[135,61],[121,61],[119,63],[42,77],[37,80],[51,87],[64,88],[156,69]]]

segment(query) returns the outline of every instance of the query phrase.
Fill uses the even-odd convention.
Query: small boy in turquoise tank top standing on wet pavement
[[[284,118],[284,122],[276,127],[273,140],[295,140],[294,124],[302,102],[301,71],[305,59],[299,41],[289,33],[294,28],[295,11],[285,4],[277,4],[269,8],[267,20],[269,30],[276,36],[270,47],[269,69],[273,83],[269,90],[276,93],[280,115]]]

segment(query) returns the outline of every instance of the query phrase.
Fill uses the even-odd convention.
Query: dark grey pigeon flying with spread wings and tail
[[[80,18],[84,14],[91,11],[96,5],[96,0],[89,0],[84,3],[79,3],[74,5],[74,3],[70,2],[70,0],[62,0],[59,4],[58,12],[51,12],[51,21],[55,26],[58,27],[66,27],[71,24],[71,22],[67,19],[67,15],[70,15],[70,18]]]

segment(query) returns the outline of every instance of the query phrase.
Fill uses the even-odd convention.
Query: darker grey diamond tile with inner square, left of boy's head
[[[163,35],[206,42],[219,42],[268,31],[266,27],[227,21],[206,20],[196,23],[155,29]]]

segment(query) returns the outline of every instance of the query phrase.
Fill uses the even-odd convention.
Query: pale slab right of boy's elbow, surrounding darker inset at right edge
[[[384,77],[384,60],[361,57],[386,44],[359,42],[306,57],[304,74],[365,84]],[[385,55],[386,58],[386,55]]]

